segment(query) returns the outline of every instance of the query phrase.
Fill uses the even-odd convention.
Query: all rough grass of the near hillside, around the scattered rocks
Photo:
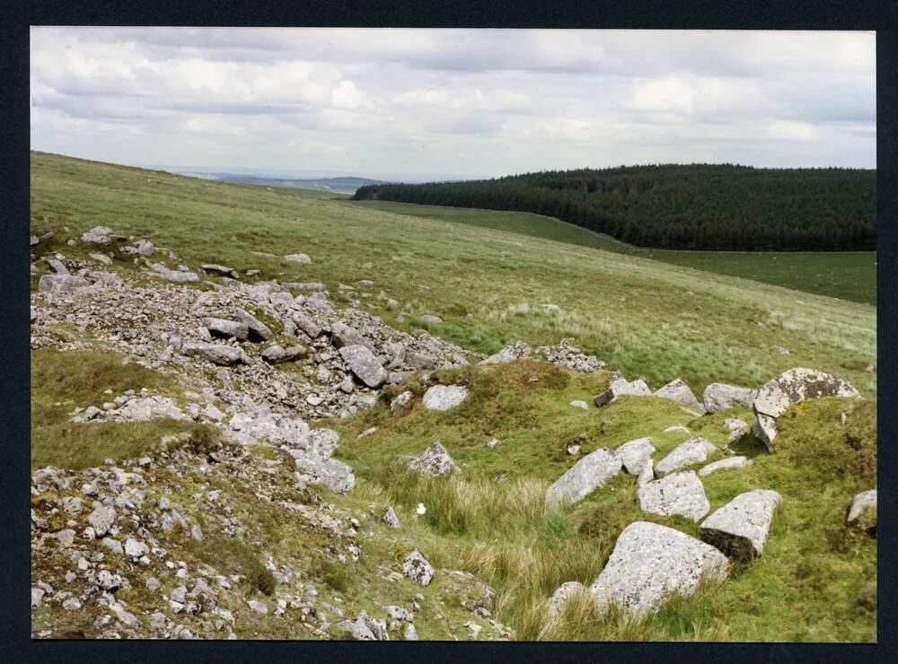
[[[735,564],[724,585],[676,599],[647,621],[598,620],[583,602],[572,602],[558,621],[548,621],[545,602],[561,582],[592,581],[630,522],[652,520],[691,535],[698,525],[641,513],[631,476],[618,476],[563,510],[547,507],[545,487],[572,465],[566,449],[573,442],[583,445],[582,454],[651,436],[661,459],[686,437],[664,432],[666,427],[684,424],[723,444],[723,419],[751,421],[751,412],[737,408],[694,418],[658,398],[624,398],[601,410],[590,403],[584,411],[569,402],[591,402],[607,374],[577,374],[547,363],[435,371],[432,380],[471,390],[451,412],[426,411],[418,398],[392,411],[388,401],[402,389],[423,391],[412,377],[384,389],[373,408],[315,424],[340,433],[336,456],[357,475],[350,494],[321,489],[324,500],[360,514],[370,503],[389,503],[402,522],[399,530],[372,525],[378,537],[364,540],[365,554],[355,567],[304,558],[317,543],[295,521],[272,516],[274,503],[260,502],[239,482],[216,484],[198,470],[178,476],[176,499],[187,502],[198,487],[233,491],[241,496],[233,509],[250,525],[251,537],[225,543],[209,537],[206,548],[189,548],[172,537],[166,546],[191,568],[197,560],[218,561],[213,545],[251,562],[275,555],[294,564],[304,579],[321,581],[321,599],[339,602],[348,616],[378,603],[410,601],[421,592],[421,637],[451,639],[449,622],[467,618],[456,605],[437,605],[436,583],[423,590],[408,580],[391,585],[377,572],[378,565],[417,546],[435,567],[475,573],[496,589],[495,615],[520,639],[876,641],[876,539],[846,533],[842,526],[851,496],[876,485],[871,304],[621,253],[587,241],[608,240],[533,215],[360,204],[45,153],[31,157],[31,230],[55,232],[39,253],[85,258],[91,249],[67,246],[66,239],[104,224],[171,247],[189,266],[212,262],[241,272],[260,269],[260,278],[282,282],[321,281],[339,305],[348,303],[340,283],[370,279],[374,285],[366,288],[371,297],[362,300],[363,308],[370,304],[367,309],[407,331],[425,327],[421,315],[436,314],[445,322],[427,324],[433,334],[482,353],[515,339],[557,345],[572,336],[610,368],[630,379],[644,376],[653,389],[678,377],[698,395],[712,381],[756,387],[780,371],[806,366],[847,378],[866,397],[792,408],[782,418],[775,455],[763,452],[750,435],[734,444],[752,464],[709,476],[706,491],[712,510],[751,489],[782,494],[764,554]],[[533,232],[517,225],[524,216],[532,218]],[[313,263],[278,258],[295,252],[309,254]],[[127,261],[116,267],[145,278]],[[31,281],[33,289],[36,279]],[[544,309],[547,303],[559,310]],[[409,316],[396,322],[401,311]],[[115,425],[97,430],[66,421],[73,403],[100,403],[105,389],[150,386],[172,395],[185,389],[165,375],[128,374],[118,367],[100,353],[32,353],[33,467],[133,458],[152,448],[155,438],[177,431],[163,423],[128,435]],[[357,438],[373,426],[375,432]],[[97,431],[94,447],[91,433]],[[489,447],[493,438],[497,445]],[[461,477],[426,480],[404,470],[402,455],[418,454],[436,440],[460,464]],[[257,452],[272,450],[252,451]],[[278,477],[293,500],[285,466]],[[419,502],[427,505],[424,515],[416,512]],[[246,555],[235,547],[246,548]],[[253,564],[259,567],[247,565]],[[140,593],[129,597],[133,611],[144,601],[148,611],[155,600]],[[263,619],[244,604],[233,607],[238,622],[251,625],[241,637],[296,638],[286,621]],[[39,617],[53,618],[49,612]]]

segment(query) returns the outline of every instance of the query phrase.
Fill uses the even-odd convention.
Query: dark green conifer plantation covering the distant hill
[[[371,184],[354,198],[545,214],[642,247],[876,249],[876,170],[731,164],[550,170]]]

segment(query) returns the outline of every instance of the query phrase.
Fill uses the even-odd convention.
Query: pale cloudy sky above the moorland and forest
[[[876,35],[31,28],[31,147],[272,175],[876,167]]]

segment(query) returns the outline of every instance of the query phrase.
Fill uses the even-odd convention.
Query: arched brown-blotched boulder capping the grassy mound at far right
[[[801,367],[783,371],[775,379],[764,383],[754,398],[752,407],[758,418],[755,433],[760,434],[767,449],[772,452],[773,441],[777,437],[777,418],[789,406],[806,399],[824,397],[860,398],[860,393],[848,380],[826,371]]]

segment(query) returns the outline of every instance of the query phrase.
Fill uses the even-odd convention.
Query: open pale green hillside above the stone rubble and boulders
[[[697,393],[715,380],[755,385],[806,365],[876,393],[875,375],[858,369],[876,363],[870,305],[346,201],[43,153],[32,154],[31,184],[32,228],[54,229],[53,247],[68,256],[87,249],[67,247],[63,227],[77,236],[106,224],[171,247],[192,266],[254,267],[285,281],[320,280],[333,293],[340,281],[373,279],[375,313],[436,313],[445,319],[437,334],[482,352],[515,338],[573,336],[654,388],[678,376]],[[314,263],[253,251],[304,251]],[[544,302],[561,311],[543,312]]]

